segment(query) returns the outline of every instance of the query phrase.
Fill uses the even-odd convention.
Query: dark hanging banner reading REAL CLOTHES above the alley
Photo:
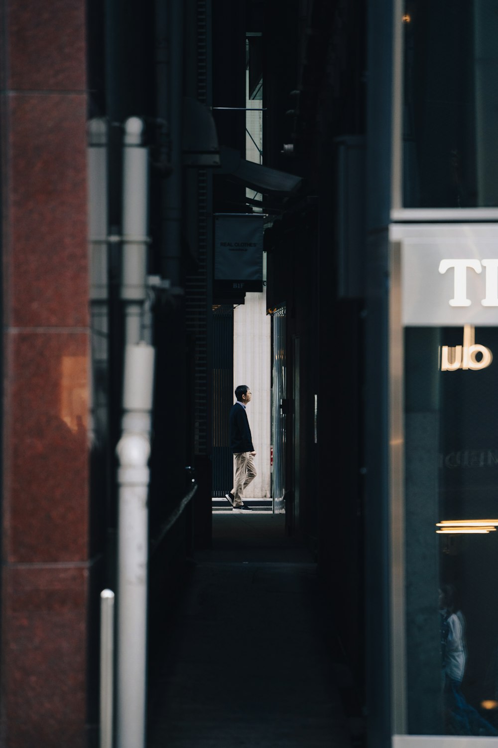
[[[214,215],[214,292],[263,290],[264,215]]]

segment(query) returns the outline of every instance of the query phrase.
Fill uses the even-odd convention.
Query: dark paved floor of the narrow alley
[[[349,748],[314,562],[284,515],[213,521],[155,665],[148,748]]]

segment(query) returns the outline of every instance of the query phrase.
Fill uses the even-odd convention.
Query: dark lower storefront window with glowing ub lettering
[[[498,327],[404,343],[407,732],[497,736]]]

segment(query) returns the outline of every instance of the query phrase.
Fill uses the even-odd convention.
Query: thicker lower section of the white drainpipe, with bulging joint
[[[146,633],[150,419],[154,349],[126,346],[119,457],[117,748],[146,739]]]

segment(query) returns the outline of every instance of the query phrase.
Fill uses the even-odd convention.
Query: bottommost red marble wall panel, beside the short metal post
[[[9,748],[84,747],[88,577],[83,564],[4,568]]]

